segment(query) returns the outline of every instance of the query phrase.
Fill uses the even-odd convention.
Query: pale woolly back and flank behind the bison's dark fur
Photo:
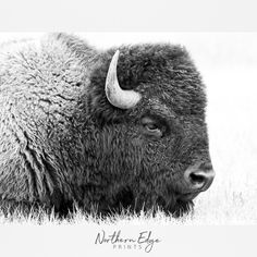
[[[2,46],[0,197],[48,201],[54,192],[72,194],[63,140],[86,74],[76,53],[57,37]]]

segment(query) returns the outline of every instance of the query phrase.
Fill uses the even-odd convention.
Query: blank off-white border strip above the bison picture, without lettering
[[[9,0],[1,32],[255,32],[254,0]]]

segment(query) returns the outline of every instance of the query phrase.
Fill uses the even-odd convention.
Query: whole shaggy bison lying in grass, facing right
[[[100,51],[63,33],[2,44],[0,206],[184,213],[215,174],[205,109],[181,46]]]

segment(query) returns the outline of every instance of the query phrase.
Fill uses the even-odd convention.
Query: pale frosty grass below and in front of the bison
[[[198,196],[193,211],[179,219],[167,216],[161,210],[156,215],[152,215],[152,210],[140,213],[123,210],[120,215],[103,218],[75,208],[69,218],[60,219],[53,211],[49,215],[39,209],[24,215],[17,209],[7,217],[0,213],[0,224],[256,224],[257,189],[249,189],[248,183],[245,183],[243,187],[233,188],[231,181],[221,184],[217,182],[211,191]]]

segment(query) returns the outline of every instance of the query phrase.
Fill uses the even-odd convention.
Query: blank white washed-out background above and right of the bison
[[[99,49],[139,42],[186,47],[207,87],[217,178],[196,199],[195,223],[257,223],[257,33],[75,33]],[[2,33],[0,41],[41,33]]]

